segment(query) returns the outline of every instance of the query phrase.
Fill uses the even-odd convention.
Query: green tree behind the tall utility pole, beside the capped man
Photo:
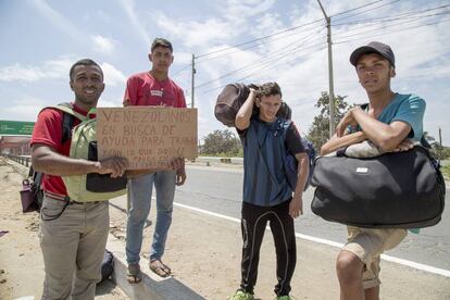
[[[347,96],[335,97],[335,125],[339,123],[342,116],[351,109],[346,102]],[[329,96],[328,92],[322,91],[321,98],[318,98],[316,108],[321,109],[321,113],[314,116],[314,121],[307,138],[314,145],[314,148],[318,151],[321,147],[329,139]]]

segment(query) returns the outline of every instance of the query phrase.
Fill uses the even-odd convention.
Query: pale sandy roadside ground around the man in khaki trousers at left
[[[0,157],[0,299],[40,299],[43,262],[40,253],[37,213],[22,213],[18,190],[27,168]],[[33,299],[33,298],[32,298]],[[99,300],[128,299],[111,280],[97,288]],[[27,299],[28,300],[28,299]]]

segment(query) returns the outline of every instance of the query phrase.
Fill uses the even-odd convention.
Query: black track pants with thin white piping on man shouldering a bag
[[[253,293],[257,284],[260,248],[264,237],[265,226],[270,222],[276,250],[275,286],[277,296],[289,295],[290,280],[297,262],[296,236],[293,218],[289,215],[290,200],[276,207],[257,207],[242,202],[242,279],[240,288]]]

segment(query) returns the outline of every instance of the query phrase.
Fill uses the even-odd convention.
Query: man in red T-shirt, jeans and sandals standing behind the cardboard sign
[[[149,72],[130,76],[127,80],[124,107],[153,105],[186,108],[183,89],[168,78],[168,67],[174,61],[172,43],[163,38],[154,39],[149,53],[152,68]],[[162,263],[165,240],[172,222],[175,185],[186,180],[184,160],[172,163],[176,171],[158,171],[136,176],[128,180],[128,212],[126,234],[126,257],[128,262],[128,282],[141,280],[139,254],[142,246],[143,224],[150,212],[151,193],[157,190],[157,225],[150,251],[150,270],[161,277],[171,275],[171,270]]]

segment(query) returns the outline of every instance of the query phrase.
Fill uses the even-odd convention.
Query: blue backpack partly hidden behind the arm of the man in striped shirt
[[[308,158],[310,159],[310,173],[308,174],[308,179],[304,185],[304,189],[310,186],[311,184],[311,177],[314,172],[314,159],[315,159],[315,149],[311,141],[309,141],[305,138],[301,138],[301,145],[307,150]],[[284,161],[285,172],[286,172],[286,178],[288,182],[289,187],[293,190],[296,190],[297,186],[297,174],[298,174],[298,162],[296,157],[293,157],[289,150],[286,150],[286,158]]]

